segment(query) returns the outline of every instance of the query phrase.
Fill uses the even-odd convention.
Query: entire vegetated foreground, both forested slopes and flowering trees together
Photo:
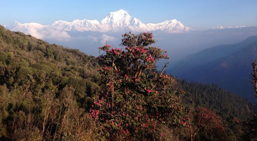
[[[254,104],[157,71],[172,58],[153,43],[125,33],[95,57],[0,26],[0,140],[257,140]]]

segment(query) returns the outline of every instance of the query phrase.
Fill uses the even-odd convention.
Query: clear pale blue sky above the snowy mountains
[[[35,22],[43,25],[57,20],[97,19],[119,9],[126,10],[143,23],[160,23],[177,19],[194,29],[257,26],[256,0],[13,0],[1,1],[0,24],[14,21]]]

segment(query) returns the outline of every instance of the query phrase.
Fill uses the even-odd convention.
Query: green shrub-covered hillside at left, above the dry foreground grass
[[[66,85],[72,84],[75,97],[85,102],[98,87],[97,68],[95,57],[77,49],[49,44],[0,26],[0,85],[10,92],[24,93],[22,88],[32,81],[27,89],[32,97],[48,89],[54,89],[58,95]],[[84,102],[79,105],[86,106]]]

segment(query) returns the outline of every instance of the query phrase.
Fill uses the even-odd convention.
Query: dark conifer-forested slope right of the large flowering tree
[[[206,107],[226,118],[235,117],[239,120],[249,118],[245,107],[248,104],[246,99],[234,95],[232,92],[226,92],[214,84],[194,83],[186,80],[181,80],[180,83],[193,105]]]

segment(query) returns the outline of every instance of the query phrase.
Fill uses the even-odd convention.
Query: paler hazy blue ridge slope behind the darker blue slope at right
[[[232,45],[218,45],[204,49],[198,53],[188,55],[184,59],[178,61],[176,65],[172,66],[167,72],[180,78],[184,78],[184,75],[182,74],[189,69],[226,57],[242,49],[243,47],[254,43],[255,41],[257,41],[257,36],[251,36],[240,43]]]

